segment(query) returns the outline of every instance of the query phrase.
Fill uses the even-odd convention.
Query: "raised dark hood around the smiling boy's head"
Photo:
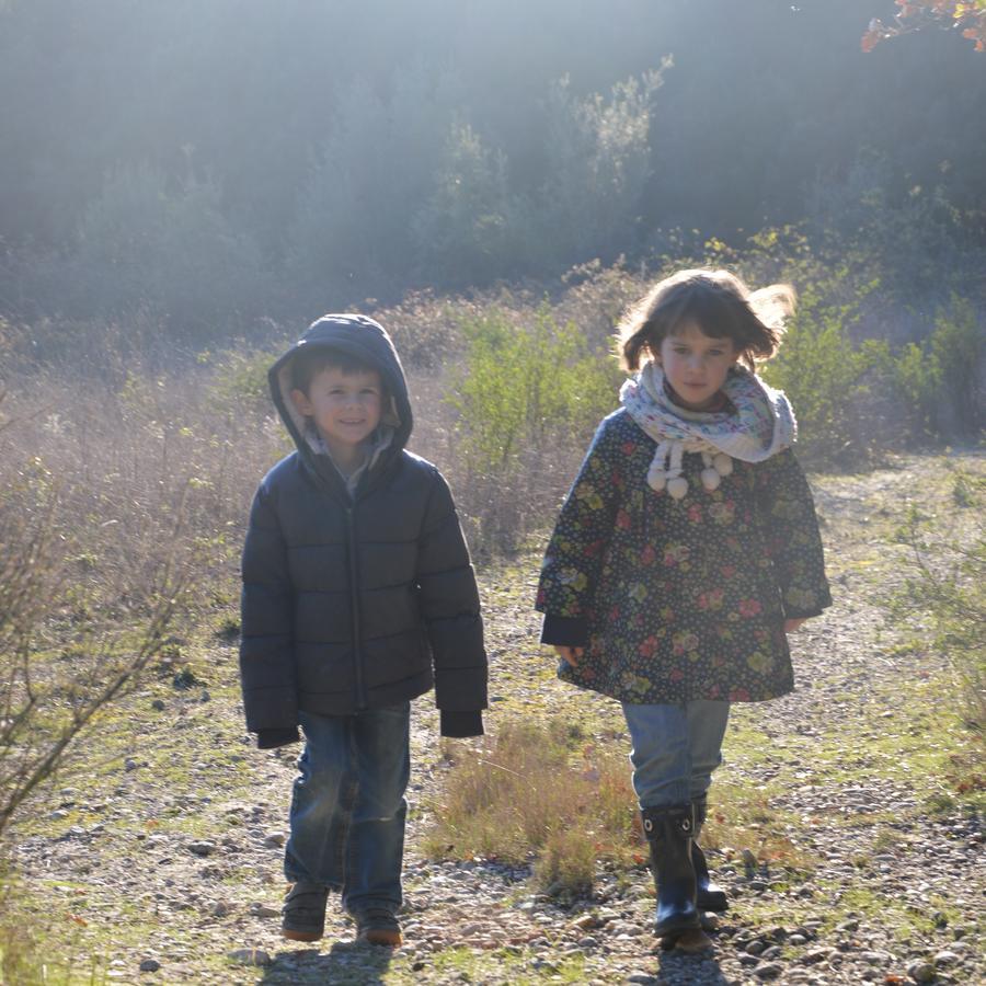
[[[367,316],[346,313],[322,316],[312,322],[298,342],[267,371],[274,406],[302,457],[310,459],[314,449],[307,434],[305,415],[295,408],[291,400],[291,365],[302,352],[311,348],[331,349],[356,357],[380,374],[390,398],[390,405],[383,408],[380,428],[392,429],[385,455],[389,458],[400,452],[411,436],[414,423],[400,357],[379,322]]]

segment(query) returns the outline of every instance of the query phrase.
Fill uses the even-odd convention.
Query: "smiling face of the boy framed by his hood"
[[[346,460],[380,423],[383,387],[377,370],[344,374],[334,366],[319,370],[303,390],[293,390],[291,400],[337,459]]]

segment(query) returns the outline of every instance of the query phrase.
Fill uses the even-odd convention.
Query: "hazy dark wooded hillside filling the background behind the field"
[[[214,345],[653,266],[676,226],[807,221],[898,305],[979,276],[982,58],[943,32],[863,55],[885,0],[388,7],[0,4],[0,314]]]

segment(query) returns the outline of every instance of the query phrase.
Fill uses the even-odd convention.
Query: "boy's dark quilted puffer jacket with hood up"
[[[391,399],[356,489],[319,455],[290,400],[308,347],[376,368]],[[242,560],[240,675],[261,746],[297,736],[298,711],[342,715],[436,689],[446,735],[482,732],[486,656],[475,578],[451,494],[406,451],[412,415],[390,337],[365,316],[325,316],[271,368],[297,449],[254,496]]]

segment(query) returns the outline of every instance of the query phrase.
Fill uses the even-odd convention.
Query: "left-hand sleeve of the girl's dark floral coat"
[[[583,646],[588,640],[599,571],[618,508],[616,437],[603,422],[596,431],[561,513],[544,560],[535,608],[544,614],[541,643]]]

